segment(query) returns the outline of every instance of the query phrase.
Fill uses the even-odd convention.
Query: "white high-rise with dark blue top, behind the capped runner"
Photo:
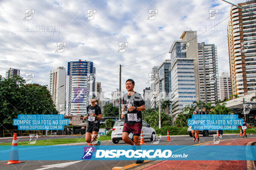
[[[67,115],[84,115],[93,88],[93,62],[71,61],[67,65]]]

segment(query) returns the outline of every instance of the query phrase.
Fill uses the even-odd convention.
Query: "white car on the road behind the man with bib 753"
[[[122,129],[124,124],[125,120],[118,120],[113,126],[111,139],[114,144],[117,144],[120,140],[122,140]],[[144,139],[150,139],[153,141],[156,138],[156,131],[144,121],[142,121],[142,131]],[[129,134],[129,138],[133,140],[133,133]]]

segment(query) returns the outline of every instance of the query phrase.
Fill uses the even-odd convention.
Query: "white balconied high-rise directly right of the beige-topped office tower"
[[[198,69],[200,100],[214,104],[220,99],[216,45],[198,43]]]

